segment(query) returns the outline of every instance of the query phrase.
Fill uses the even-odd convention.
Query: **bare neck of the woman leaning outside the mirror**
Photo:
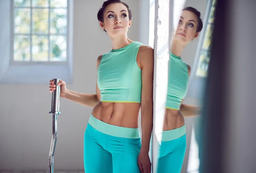
[[[112,42],[112,49],[121,49],[122,47],[127,46],[128,44],[132,43],[132,40],[130,40],[127,35],[118,35],[118,36],[110,36],[111,42]]]

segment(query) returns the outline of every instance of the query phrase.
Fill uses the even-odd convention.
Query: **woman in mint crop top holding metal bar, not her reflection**
[[[154,50],[127,37],[132,13],[126,3],[105,1],[97,16],[113,49],[97,58],[96,94],[74,92],[64,81],[58,83],[61,97],[93,107],[84,133],[85,172],[151,173]],[[52,80],[49,89],[55,89]]]

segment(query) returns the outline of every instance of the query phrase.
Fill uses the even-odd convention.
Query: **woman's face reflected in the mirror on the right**
[[[199,32],[196,32],[198,26],[197,16],[193,12],[183,10],[174,40],[182,44],[189,43],[192,39],[198,37]]]

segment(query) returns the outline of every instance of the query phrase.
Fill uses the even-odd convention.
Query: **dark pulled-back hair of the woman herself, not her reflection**
[[[129,6],[126,3],[123,3],[121,0],[107,0],[102,4],[102,7],[99,9],[99,12],[97,14],[99,22],[104,22],[104,12],[106,10],[106,7],[111,3],[122,3],[123,5],[125,5],[128,9],[129,20],[132,19],[131,9],[129,9]],[[104,31],[107,32],[105,29]]]

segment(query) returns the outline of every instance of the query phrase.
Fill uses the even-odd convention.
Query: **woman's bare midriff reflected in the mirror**
[[[165,118],[163,121],[163,131],[173,130],[182,127],[185,120],[180,110],[165,110]]]

